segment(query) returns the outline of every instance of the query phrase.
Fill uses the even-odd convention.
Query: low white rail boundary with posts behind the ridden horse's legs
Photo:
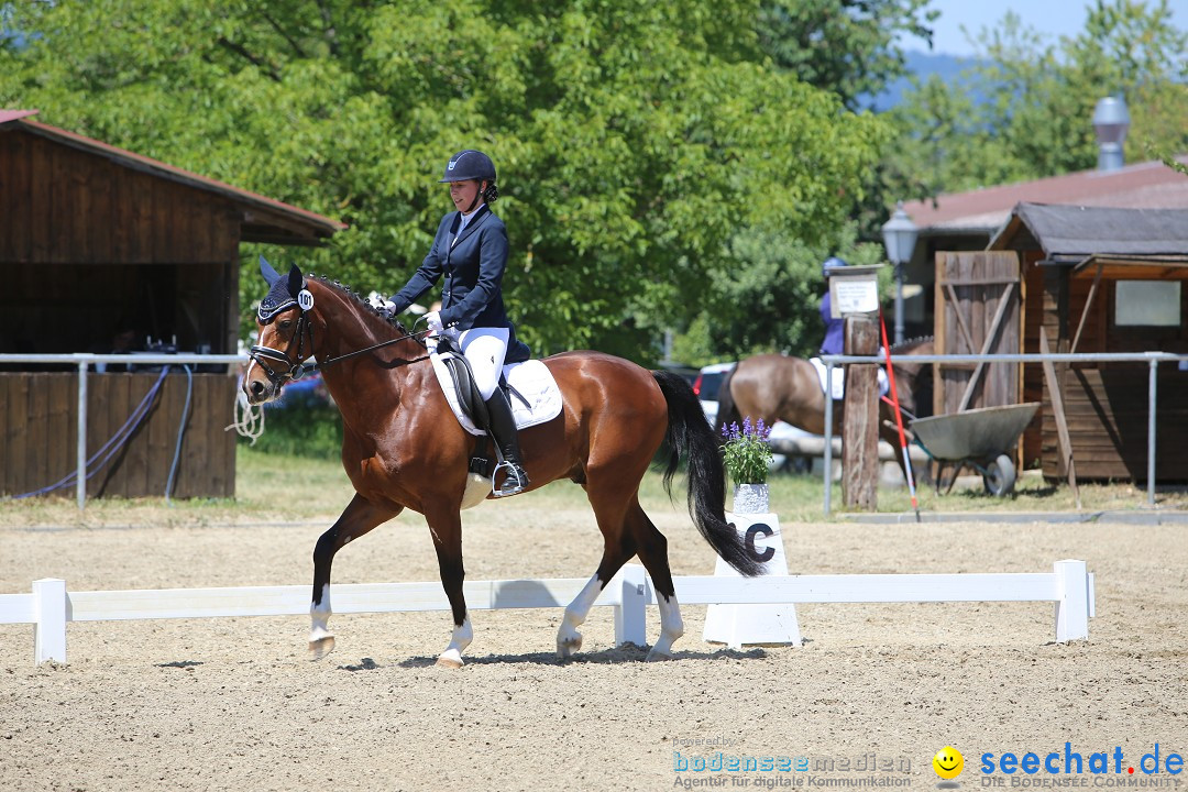
[[[1082,560],[1059,560],[1051,572],[959,575],[789,575],[757,578],[677,577],[682,604],[827,602],[1054,602],[1056,641],[1089,636],[1094,581]],[[587,578],[476,581],[463,585],[472,610],[564,608]],[[334,613],[449,610],[441,583],[365,583],[331,588]],[[0,595],[0,623],[34,626],[34,661],[67,661],[67,622],[309,615],[308,585],[221,589],[67,591],[45,578],[31,594]],[[646,645],[651,581],[627,564],[599,596],[614,608],[617,644]]]

